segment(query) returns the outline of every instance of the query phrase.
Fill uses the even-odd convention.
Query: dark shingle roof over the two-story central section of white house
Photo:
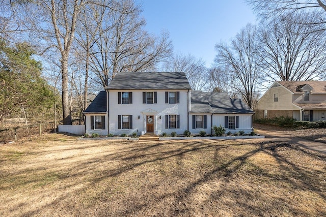
[[[184,72],[120,72],[106,89],[191,89]]]

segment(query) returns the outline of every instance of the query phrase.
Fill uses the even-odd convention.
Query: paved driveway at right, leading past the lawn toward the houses
[[[262,141],[286,141],[289,144],[297,144],[303,146],[305,148],[321,151],[326,153],[326,143],[311,141],[307,139],[302,139],[291,135],[291,131],[289,133],[284,133],[275,130],[265,130],[256,128],[257,133],[264,135],[265,139]]]

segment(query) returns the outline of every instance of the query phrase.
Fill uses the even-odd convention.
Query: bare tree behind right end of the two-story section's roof
[[[184,72],[194,90],[207,90],[209,88],[208,69],[201,58],[191,54],[175,54],[170,61],[167,61],[161,71]]]

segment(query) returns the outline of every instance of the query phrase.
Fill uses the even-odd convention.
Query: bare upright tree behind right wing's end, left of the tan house
[[[235,81],[230,85],[241,94],[244,102],[253,108],[261,79],[261,46],[256,26],[248,24],[231,40],[230,45],[216,44],[215,49],[218,52],[215,64],[230,70],[225,74]]]

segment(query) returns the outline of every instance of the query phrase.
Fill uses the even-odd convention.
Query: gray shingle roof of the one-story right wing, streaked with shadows
[[[210,109],[208,108],[208,106],[210,107]],[[191,112],[192,113],[214,113],[214,114],[255,113],[241,99],[231,99],[225,92],[202,92],[202,91],[192,91]]]

